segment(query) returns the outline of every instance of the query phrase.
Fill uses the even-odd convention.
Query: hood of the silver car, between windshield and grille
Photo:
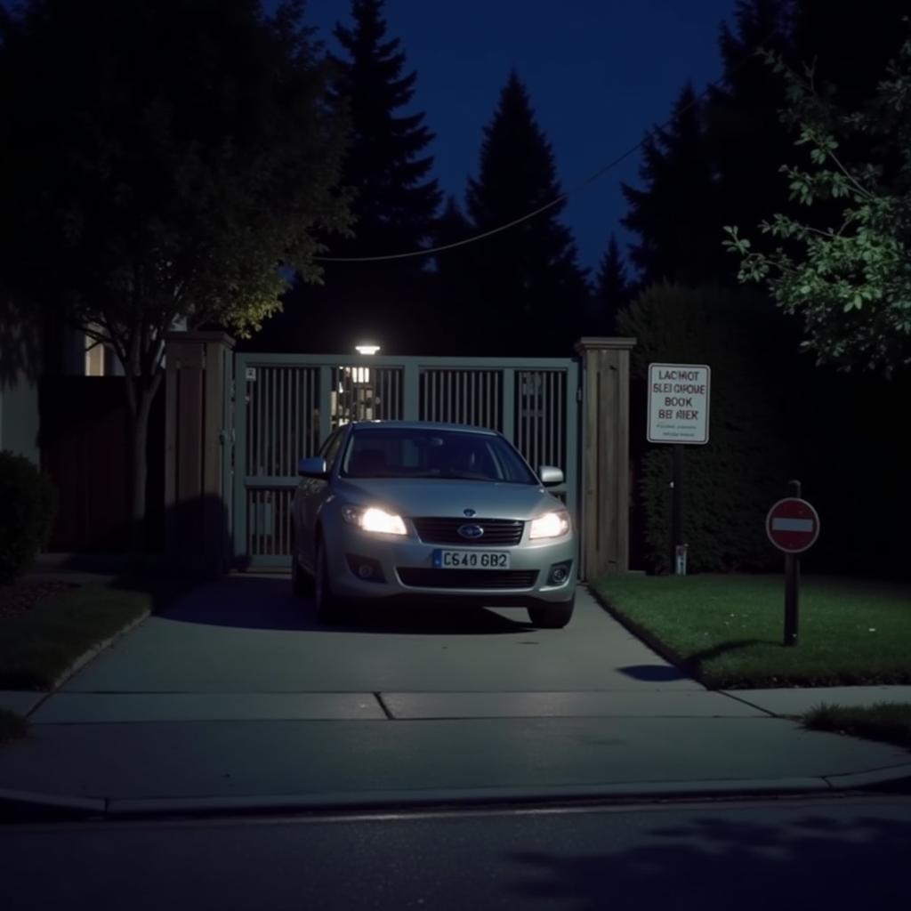
[[[530,484],[419,478],[340,479],[338,495],[358,506],[377,506],[401,516],[528,520],[563,504],[544,487]]]

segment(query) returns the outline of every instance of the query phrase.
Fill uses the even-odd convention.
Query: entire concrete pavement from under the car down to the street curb
[[[786,717],[822,701],[911,701],[911,687],[707,691],[584,590],[567,630],[516,616],[325,628],[284,580],[221,580],[56,693],[0,694],[31,722],[0,749],[0,796],[117,815],[911,779],[905,750]]]

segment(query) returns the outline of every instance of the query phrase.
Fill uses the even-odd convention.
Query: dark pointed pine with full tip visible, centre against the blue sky
[[[484,130],[480,166],[466,207],[477,232],[494,230],[558,200],[554,153],[538,127],[515,72]],[[475,292],[470,350],[475,353],[568,355],[588,297],[576,244],[558,220],[558,202],[534,218],[466,248],[466,281]],[[468,349],[466,349],[468,350]]]

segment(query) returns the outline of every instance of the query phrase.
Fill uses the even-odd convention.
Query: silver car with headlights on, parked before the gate
[[[564,627],[576,537],[548,486],[506,437],[482,427],[370,421],[339,427],[298,466],[292,587],[321,617],[345,601],[453,599],[525,607]]]

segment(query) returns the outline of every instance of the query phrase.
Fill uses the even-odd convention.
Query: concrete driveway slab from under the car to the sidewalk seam
[[[564,630],[521,609],[366,606],[315,619],[287,578],[190,592],[101,654],[67,693],[702,691],[579,589]]]

